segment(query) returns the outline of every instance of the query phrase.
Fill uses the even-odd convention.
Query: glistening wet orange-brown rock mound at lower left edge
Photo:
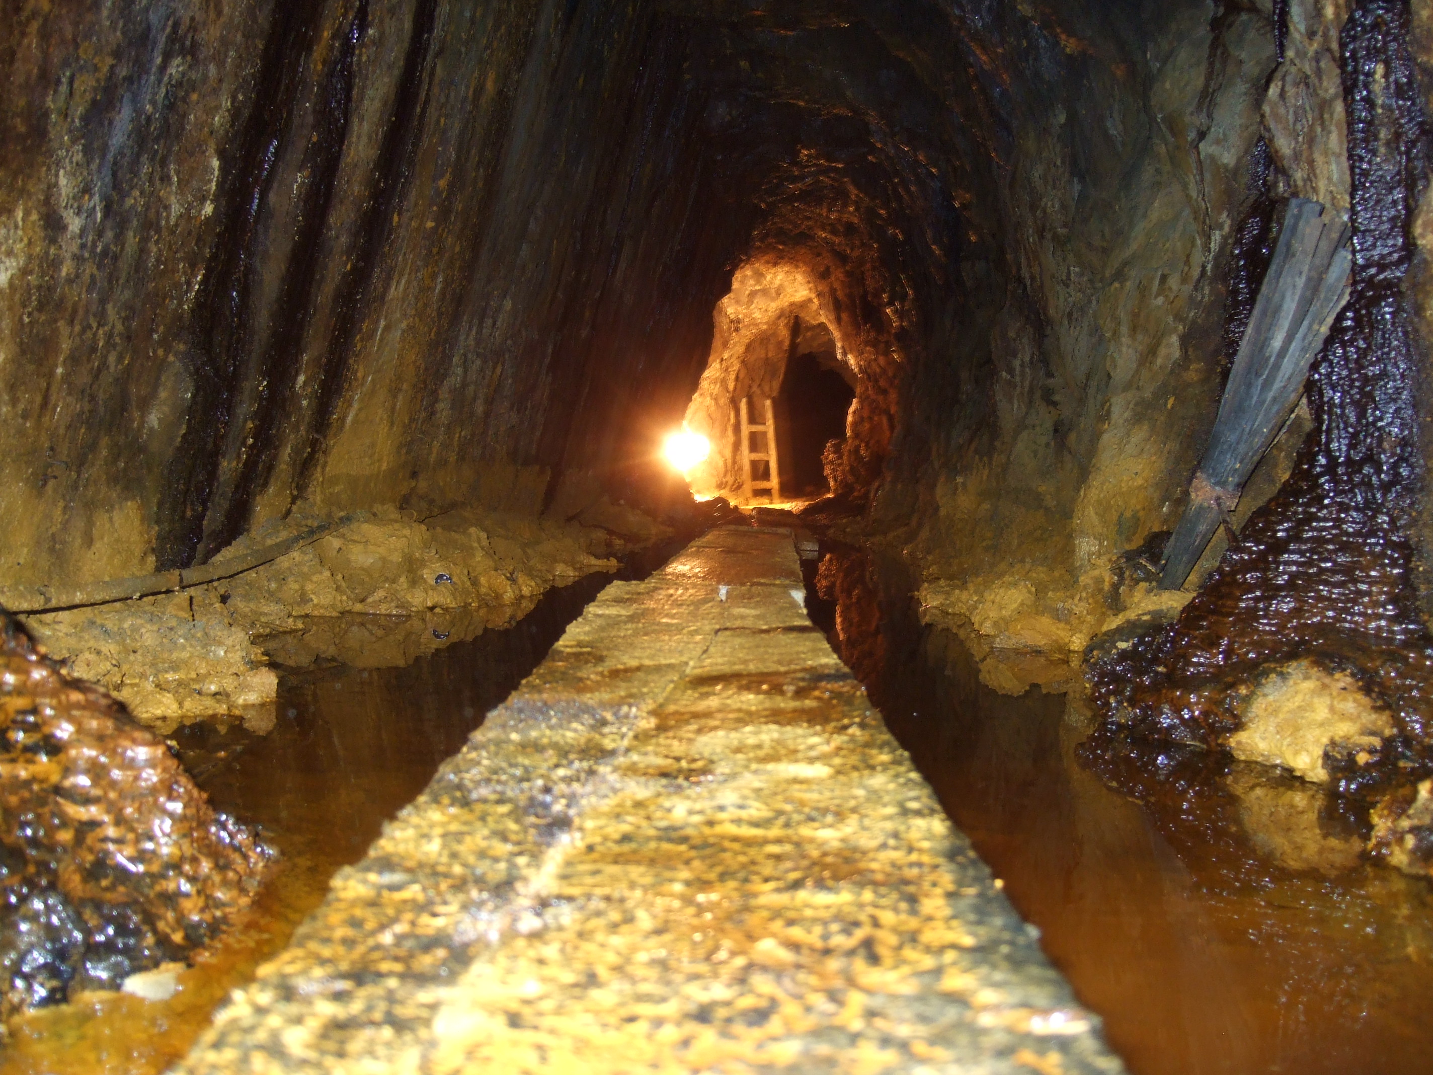
[[[0,624],[0,1018],[115,989],[249,904],[267,860],[163,742]]]

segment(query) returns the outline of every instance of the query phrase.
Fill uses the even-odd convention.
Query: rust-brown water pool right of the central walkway
[[[957,639],[916,621],[898,565],[833,546],[807,578],[813,621],[1134,1075],[1427,1069],[1423,882],[1277,864],[1245,836],[1227,761],[1154,751],[1162,778],[1116,791],[1078,760],[1065,697],[983,687]]]

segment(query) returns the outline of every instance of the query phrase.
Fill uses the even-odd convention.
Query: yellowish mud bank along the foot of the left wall
[[[390,506],[234,578],[32,615],[26,624],[75,675],[105,687],[162,732],[196,720],[265,728],[278,682],[271,661],[407,664],[510,626],[550,588],[616,570],[613,552],[671,533],[606,499],[580,517],[588,522],[454,509],[420,520]],[[259,527],[215,562],[281,540],[307,522]]]

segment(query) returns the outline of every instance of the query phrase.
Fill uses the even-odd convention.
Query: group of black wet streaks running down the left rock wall
[[[298,484],[312,476],[318,447],[334,420],[361,311],[378,252],[413,168],[423,132],[426,66],[436,0],[418,0],[391,115],[363,202],[357,242],[334,298],[332,324],[317,366],[308,434]],[[166,473],[159,510],[156,562],[160,569],[205,562],[238,538],[254,497],[274,470],[279,424],[297,408],[297,381],[314,320],[318,259],[337,192],[353,110],[354,63],[368,24],[368,3],[357,0],[337,42],[317,40],[321,4],[281,4],[275,11],[255,80],[255,100],[226,163],[222,216],[193,304],[185,353],[195,386]],[[318,66],[318,99],[302,155],[298,204],[291,209],[288,261],[267,317],[257,298],[264,258],[262,225],[275,163],[295,133],[305,70]]]

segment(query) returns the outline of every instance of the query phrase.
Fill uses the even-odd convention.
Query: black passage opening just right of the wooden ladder
[[[788,497],[830,492],[821,453],[845,439],[845,414],[856,391],[831,366],[835,355],[798,354],[787,363],[777,396],[777,452],[781,493]]]

